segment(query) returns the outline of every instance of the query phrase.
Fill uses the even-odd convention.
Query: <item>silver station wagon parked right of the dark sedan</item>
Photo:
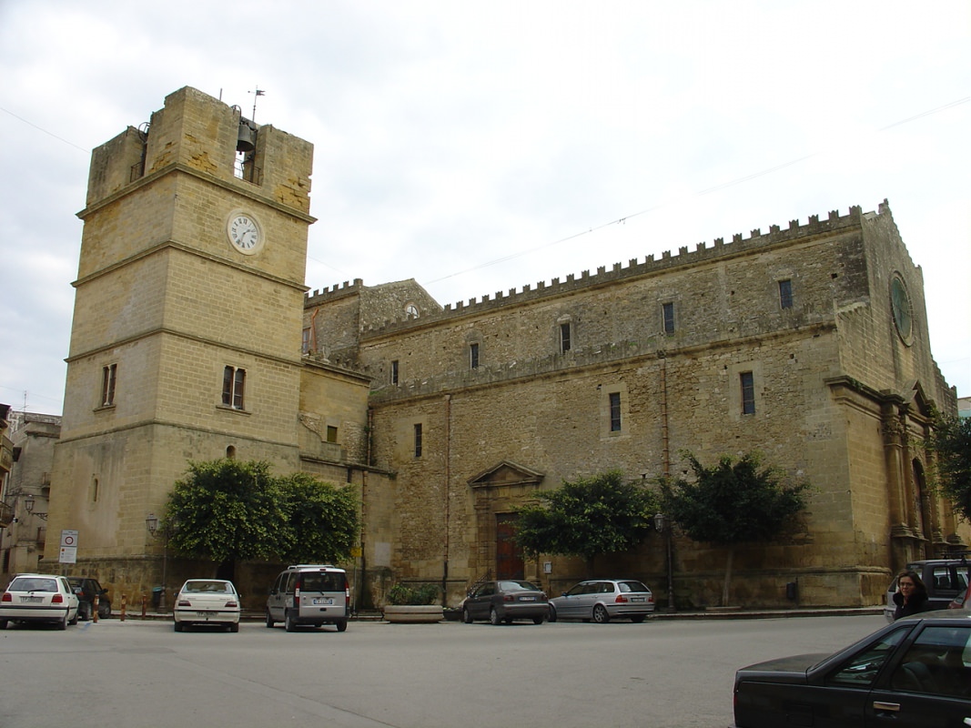
[[[643,622],[654,611],[651,589],[637,579],[589,579],[550,600],[550,621],[583,619],[605,624],[611,619]]]

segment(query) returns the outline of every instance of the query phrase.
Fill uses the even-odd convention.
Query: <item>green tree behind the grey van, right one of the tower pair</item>
[[[351,488],[294,473],[280,480],[280,489],[286,513],[282,560],[337,563],[351,556],[359,527]]]

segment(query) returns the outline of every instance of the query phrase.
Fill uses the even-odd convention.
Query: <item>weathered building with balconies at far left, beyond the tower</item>
[[[0,579],[38,570],[47,543],[50,471],[60,421],[57,414],[11,414],[13,467],[3,499],[14,518],[0,532]]]

